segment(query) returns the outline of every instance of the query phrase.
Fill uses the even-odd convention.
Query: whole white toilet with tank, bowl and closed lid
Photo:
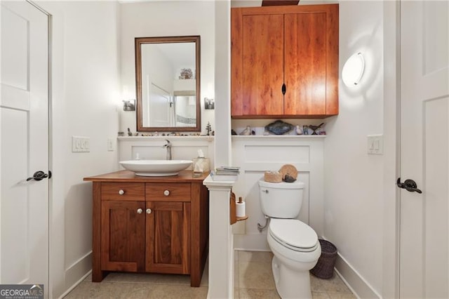
[[[270,218],[267,241],[281,298],[311,298],[309,270],[321,255],[316,232],[295,219],[302,205],[304,182],[259,181],[262,213]]]

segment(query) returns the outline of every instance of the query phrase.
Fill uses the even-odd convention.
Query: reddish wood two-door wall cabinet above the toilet
[[[233,118],[338,114],[338,4],[232,8]]]

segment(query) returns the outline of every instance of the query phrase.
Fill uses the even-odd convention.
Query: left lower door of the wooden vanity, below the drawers
[[[101,269],[145,271],[145,201],[102,201]]]

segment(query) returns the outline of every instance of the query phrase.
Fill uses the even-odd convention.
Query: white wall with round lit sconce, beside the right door
[[[327,122],[324,154],[324,236],[377,294],[382,293],[384,157],[367,154],[366,136],[384,132],[382,8],[382,1],[340,2],[340,71],[357,51],[366,71],[355,88],[340,82],[340,114]]]

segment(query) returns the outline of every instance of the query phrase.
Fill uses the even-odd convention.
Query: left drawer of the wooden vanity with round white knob
[[[143,182],[102,182],[101,200],[145,201]]]

